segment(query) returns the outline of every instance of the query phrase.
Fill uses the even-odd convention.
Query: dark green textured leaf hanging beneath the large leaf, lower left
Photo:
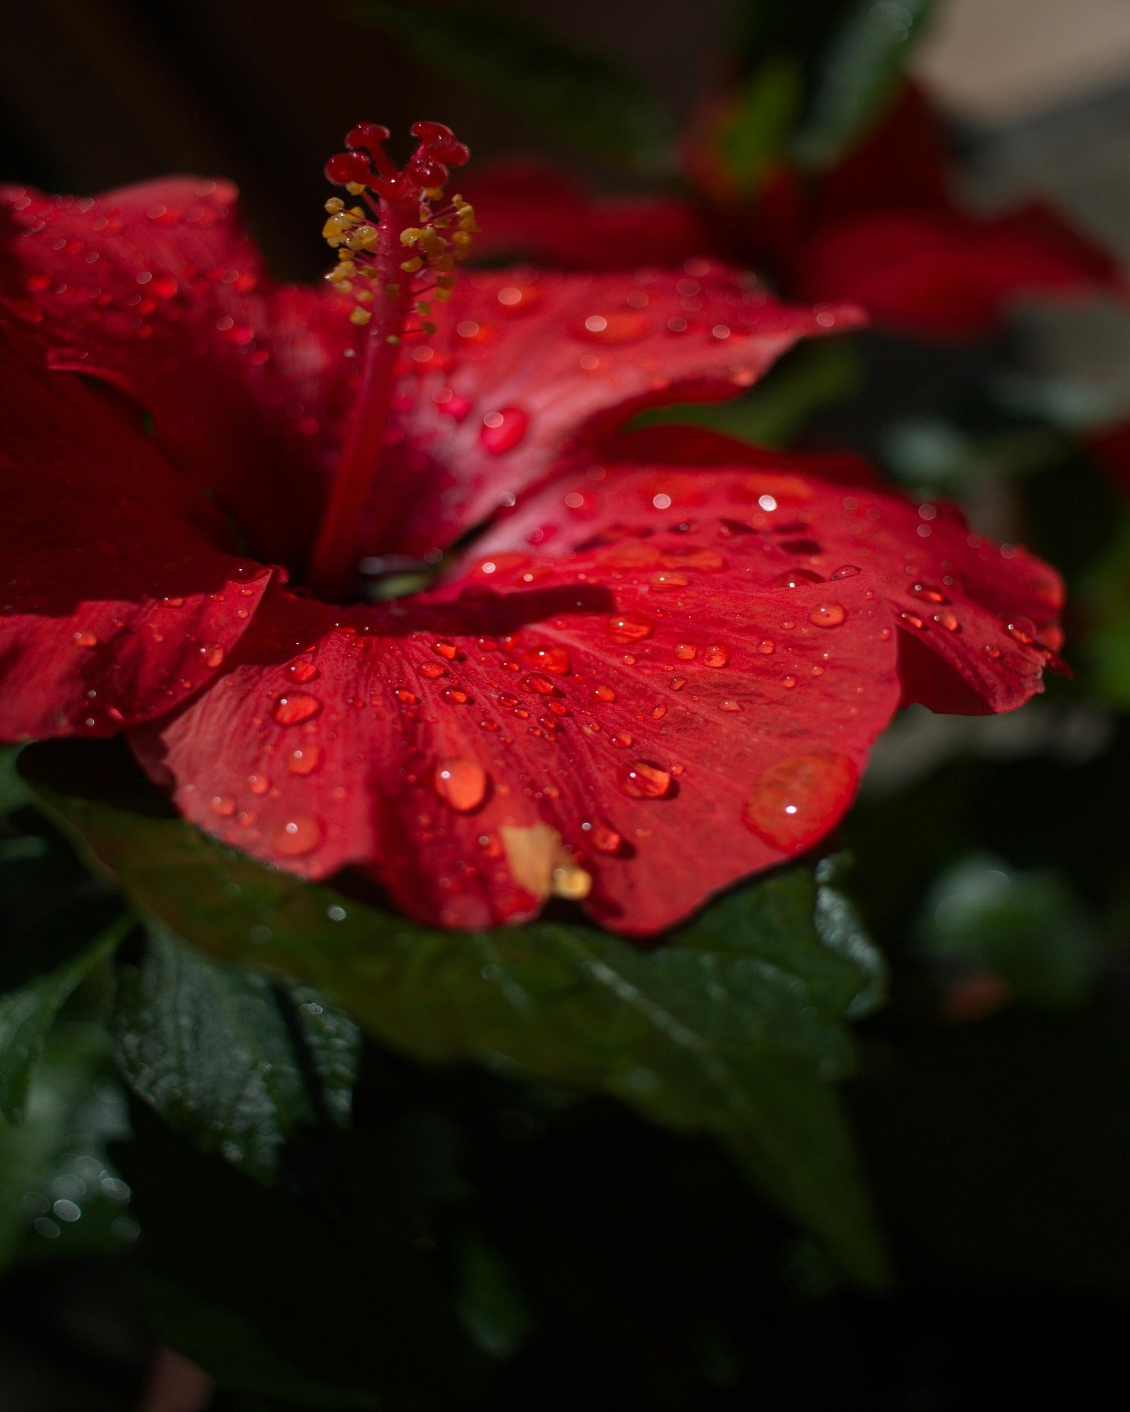
[[[141,964],[121,970],[112,1028],[134,1093],[261,1182],[299,1127],[349,1121],[356,1025],[308,987],[209,960],[160,923]]]

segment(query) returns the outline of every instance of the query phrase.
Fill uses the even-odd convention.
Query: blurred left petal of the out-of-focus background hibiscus
[[[681,265],[712,249],[689,202],[590,195],[557,168],[509,161],[462,181],[482,233],[476,260],[534,260],[561,270]]]

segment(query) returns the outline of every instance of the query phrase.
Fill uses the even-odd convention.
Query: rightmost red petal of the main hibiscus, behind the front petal
[[[640,446],[634,435],[624,443],[633,453]],[[614,443],[605,449],[616,452]],[[564,558],[606,544],[624,562],[650,558],[655,570],[677,572],[677,555],[654,552],[655,535],[685,525],[686,562],[716,552],[759,583],[799,569],[829,580],[831,592],[852,570],[874,573],[898,628],[907,703],[979,714],[1023,706],[1042,690],[1049,654],[1038,635],[1064,600],[1054,569],[1023,548],[970,534],[952,505],[920,507],[874,484],[829,481],[825,470],[843,469],[835,457],[746,449],[744,460],[739,470],[607,457],[500,520],[476,544],[476,559],[518,546]]]

